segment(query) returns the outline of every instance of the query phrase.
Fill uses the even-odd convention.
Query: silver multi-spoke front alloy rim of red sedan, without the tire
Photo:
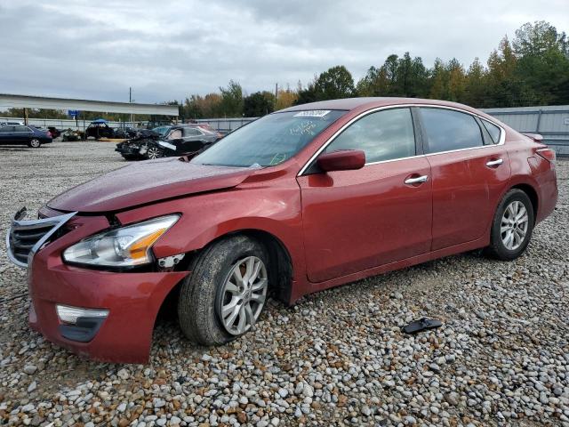
[[[232,335],[244,334],[259,318],[267,299],[268,275],[264,262],[248,256],[229,270],[220,292],[218,314]]]

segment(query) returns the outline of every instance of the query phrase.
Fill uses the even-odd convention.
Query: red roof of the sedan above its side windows
[[[387,97],[387,96],[344,98],[341,100],[310,102],[308,104],[295,105],[293,107],[289,107],[288,109],[281,109],[278,112],[302,111],[307,109],[344,109],[350,111],[352,109],[373,109],[376,107],[386,107],[390,105],[401,105],[401,104],[438,105],[443,107],[465,109],[470,112],[476,112],[477,114],[480,114],[480,111],[472,109],[468,105],[459,104],[458,102],[427,100],[422,98],[398,98],[398,97]]]

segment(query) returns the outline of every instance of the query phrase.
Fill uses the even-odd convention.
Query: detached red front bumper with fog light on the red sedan
[[[49,341],[90,359],[146,363],[158,310],[188,271],[114,272],[70,266],[62,261],[62,251],[108,228],[107,219],[73,216],[60,223],[60,217],[53,217],[26,225],[45,220],[60,224],[62,235],[45,239],[28,254],[29,325]],[[21,227],[22,221],[16,222]],[[21,243],[14,241],[13,222],[7,241],[12,242],[12,258],[13,244]]]

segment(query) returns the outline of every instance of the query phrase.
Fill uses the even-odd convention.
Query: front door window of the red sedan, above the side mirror
[[[362,149],[365,163],[415,155],[411,109],[384,109],[360,118],[340,134],[326,152]]]

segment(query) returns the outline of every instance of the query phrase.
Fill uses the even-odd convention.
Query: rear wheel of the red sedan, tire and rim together
[[[512,261],[524,253],[533,232],[534,213],[530,197],[521,189],[510,189],[496,209],[485,254]]]

